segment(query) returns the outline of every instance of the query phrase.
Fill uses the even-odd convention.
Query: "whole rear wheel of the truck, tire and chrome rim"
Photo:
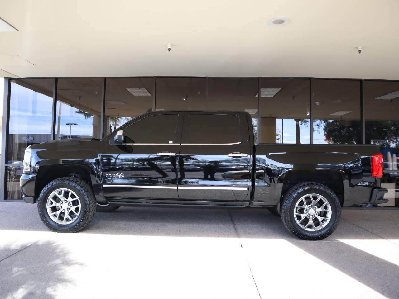
[[[336,230],[341,205],[327,186],[306,182],[287,191],[280,214],[284,226],[298,238],[322,240]]]

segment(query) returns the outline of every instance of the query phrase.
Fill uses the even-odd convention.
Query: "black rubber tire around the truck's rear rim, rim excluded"
[[[296,202],[304,195],[316,193],[322,195],[330,204],[331,217],[330,222],[324,228],[315,231],[308,231],[300,227],[294,218],[294,209]],[[281,219],[284,226],[294,236],[303,240],[322,240],[330,236],[336,230],[341,218],[341,205],[336,194],[328,187],[313,183],[305,182],[293,186],[284,196],[281,207]],[[300,219],[298,219],[300,220]],[[303,223],[303,222],[302,222]]]

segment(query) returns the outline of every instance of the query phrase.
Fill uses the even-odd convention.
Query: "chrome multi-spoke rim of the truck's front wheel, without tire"
[[[80,199],[70,189],[60,188],[53,191],[47,199],[47,214],[58,224],[71,224],[81,211]]]

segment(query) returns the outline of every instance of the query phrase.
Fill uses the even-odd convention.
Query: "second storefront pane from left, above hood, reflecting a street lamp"
[[[102,85],[101,78],[58,79],[56,140],[101,138]]]

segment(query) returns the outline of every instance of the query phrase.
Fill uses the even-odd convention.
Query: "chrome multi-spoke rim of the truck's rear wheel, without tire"
[[[330,222],[331,215],[330,203],[325,197],[316,193],[302,196],[294,208],[296,223],[311,232],[324,228]]]

